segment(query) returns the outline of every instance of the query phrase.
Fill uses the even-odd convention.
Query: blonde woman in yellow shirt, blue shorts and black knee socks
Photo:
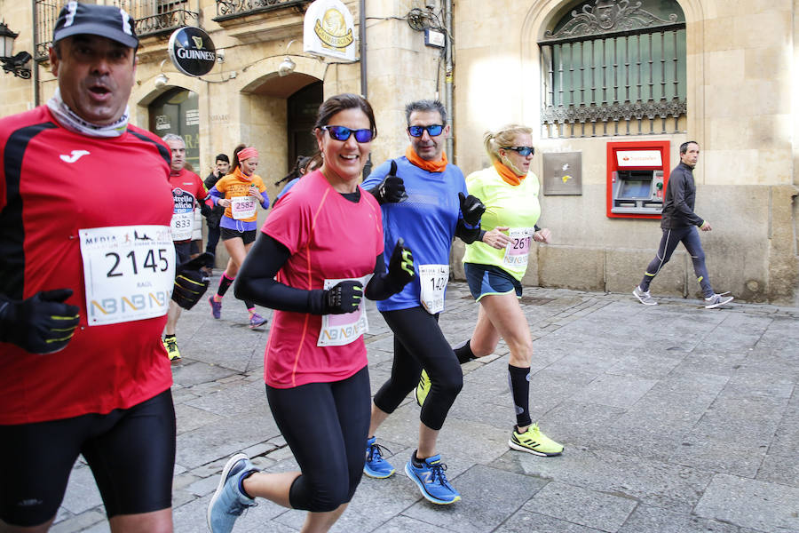
[[[550,230],[536,226],[541,205],[538,178],[530,171],[532,133],[532,129],[518,124],[487,131],[483,144],[493,164],[466,178],[469,194],[486,206],[480,219],[480,239],[467,244],[463,256],[466,281],[480,306],[471,338],[454,350],[463,364],[494,353],[499,339],[505,339],[510,348],[510,394],[516,408],[516,426],[508,444],[512,449],[550,457],[560,455],[563,446],[542,434],[530,417],[533,339],[518,303],[531,241],[550,242]],[[423,373],[416,388],[417,402],[423,402],[429,387],[430,380]]]

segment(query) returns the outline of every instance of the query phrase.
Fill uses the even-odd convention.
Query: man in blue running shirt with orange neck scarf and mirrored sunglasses
[[[416,269],[404,290],[377,302],[394,332],[394,362],[391,378],[372,405],[364,473],[375,478],[394,473],[394,467],[381,455],[375,433],[426,370],[431,391],[420,415],[419,446],[407,461],[405,473],[423,497],[447,505],[461,496],[447,481],[436,441],[461,391],[463,374],[439,328],[439,313],[444,310],[452,241],[455,236],[464,243],[481,238],[480,216],[485,207],[467,192],[463,172],[447,162],[444,143],[449,126],[441,102],[411,102],[405,113],[410,141],[405,155],[378,166],[363,183],[381,204],[385,243],[403,238],[414,251]]]

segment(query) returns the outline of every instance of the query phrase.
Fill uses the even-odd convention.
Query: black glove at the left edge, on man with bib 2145
[[[71,289],[42,290],[22,301],[0,300],[0,340],[31,354],[63,350],[75,335],[80,309],[64,301]]]

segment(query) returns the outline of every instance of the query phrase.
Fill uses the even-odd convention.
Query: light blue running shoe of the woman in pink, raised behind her
[[[234,455],[227,461],[222,470],[217,491],[208,505],[208,529],[211,533],[230,533],[236,519],[247,510],[257,505],[254,498],[248,497],[239,489],[241,477],[253,470],[255,465],[243,453]]]

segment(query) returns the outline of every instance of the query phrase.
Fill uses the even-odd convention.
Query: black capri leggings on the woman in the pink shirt
[[[331,383],[267,385],[266,399],[302,472],[289,490],[291,507],[327,513],[349,502],[366,460],[368,368]]]

